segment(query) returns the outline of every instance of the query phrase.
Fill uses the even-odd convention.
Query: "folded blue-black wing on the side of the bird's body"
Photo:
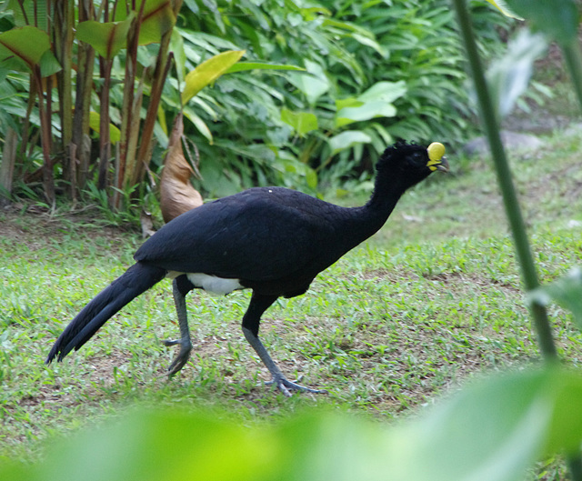
[[[327,204],[299,193],[288,198],[291,191],[272,197],[266,192],[251,189],[180,215],[148,239],[135,260],[177,272],[247,280],[306,270],[315,276],[322,270],[319,251],[333,235],[321,212]]]

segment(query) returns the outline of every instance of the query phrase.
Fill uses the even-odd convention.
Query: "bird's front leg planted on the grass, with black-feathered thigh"
[[[243,334],[248,344],[255,349],[256,355],[260,357],[263,364],[273,376],[272,380],[266,384],[272,384],[281,389],[285,396],[291,396],[291,391],[306,391],[309,393],[325,393],[323,389],[311,389],[306,386],[300,386],[286,379],[275,361],[269,356],[266,347],[258,338],[258,326],[260,318],[266,309],[276,301],[277,296],[260,296],[253,293],[251,303],[243,317]]]

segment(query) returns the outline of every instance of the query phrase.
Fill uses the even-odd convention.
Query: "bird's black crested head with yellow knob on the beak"
[[[405,189],[417,184],[433,172],[448,172],[445,145],[433,142],[428,147],[397,142],[386,148],[376,166],[378,174],[399,177]]]

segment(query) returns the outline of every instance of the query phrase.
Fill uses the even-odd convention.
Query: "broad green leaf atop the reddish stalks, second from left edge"
[[[134,19],[132,13],[122,22],[95,22],[87,20],[76,26],[79,40],[91,45],[99,55],[111,60],[127,44],[127,33]]]

